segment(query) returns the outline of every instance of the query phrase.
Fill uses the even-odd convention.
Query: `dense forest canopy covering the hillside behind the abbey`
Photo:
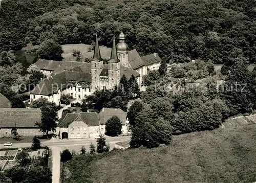
[[[166,61],[256,62],[256,1],[9,0],[0,9],[0,52],[54,39],[60,44],[112,44],[121,31],[141,55]]]

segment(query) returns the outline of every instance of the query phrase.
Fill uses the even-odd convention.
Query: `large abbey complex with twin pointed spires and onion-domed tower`
[[[104,64],[96,35],[91,63],[43,59],[35,62],[47,78],[30,92],[30,101],[33,103],[44,97],[60,105],[61,94],[81,100],[96,90],[112,89],[119,84],[122,75],[127,79],[133,75],[141,88],[142,76],[148,71],[158,70],[160,62],[161,58],[156,53],[140,57],[136,50],[128,51],[125,35],[121,32],[118,44],[113,37],[111,57],[108,64]]]

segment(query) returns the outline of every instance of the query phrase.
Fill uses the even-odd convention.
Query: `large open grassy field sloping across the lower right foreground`
[[[62,182],[255,182],[256,125],[174,136],[168,147],[80,155]]]

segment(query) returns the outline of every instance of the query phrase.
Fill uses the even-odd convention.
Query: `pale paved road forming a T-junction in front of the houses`
[[[118,136],[118,137],[106,137],[106,142],[109,143],[112,149],[117,142],[130,140],[130,136]],[[70,151],[79,152],[81,147],[86,147],[89,151],[90,144],[96,145],[96,139],[74,139],[74,140],[58,140],[52,139],[49,141],[42,142],[42,146],[48,146],[52,150],[52,183],[59,183],[60,176],[60,155],[59,153],[64,149],[69,149]],[[13,144],[10,148],[25,148],[31,147],[31,143],[19,143]],[[4,144],[0,145],[0,149],[6,148]],[[9,147],[8,147],[9,148]]]

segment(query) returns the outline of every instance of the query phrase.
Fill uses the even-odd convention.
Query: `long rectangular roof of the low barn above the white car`
[[[1,109],[0,128],[36,128],[35,123],[41,122],[40,109]]]

